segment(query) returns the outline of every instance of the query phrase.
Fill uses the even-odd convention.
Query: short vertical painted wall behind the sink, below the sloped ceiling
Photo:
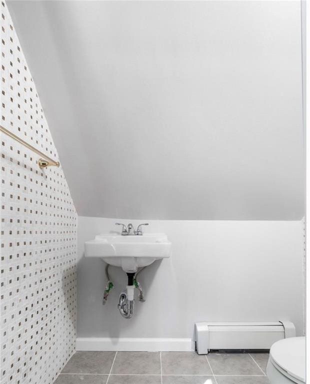
[[[105,263],[83,257],[84,241],[118,230],[114,222],[78,217],[77,337],[192,337],[203,320],[290,320],[302,334],[302,221],[148,220],[146,231],[167,233],[172,256],[141,272],[146,302],[130,320],[116,308],[125,273],[110,267],[103,306]]]

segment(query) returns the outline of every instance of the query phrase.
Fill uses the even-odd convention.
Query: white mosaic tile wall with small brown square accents
[[[0,124],[58,154],[5,2]],[[77,215],[61,166],[1,134],[1,384],[51,384],[75,348]]]

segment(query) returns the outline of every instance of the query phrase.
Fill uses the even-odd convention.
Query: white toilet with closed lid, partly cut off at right
[[[305,383],[305,337],[288,337],[272,344],[267,376],[271,384]]]

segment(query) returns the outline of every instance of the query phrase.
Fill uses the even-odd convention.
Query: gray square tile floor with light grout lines
[[[268,384],[268,353],[76,352],[54,384]]]

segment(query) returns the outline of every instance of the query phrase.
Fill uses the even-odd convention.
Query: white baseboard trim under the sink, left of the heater
[[[191,351],[191,338],[160,337],[77,337],[76,350]]]

